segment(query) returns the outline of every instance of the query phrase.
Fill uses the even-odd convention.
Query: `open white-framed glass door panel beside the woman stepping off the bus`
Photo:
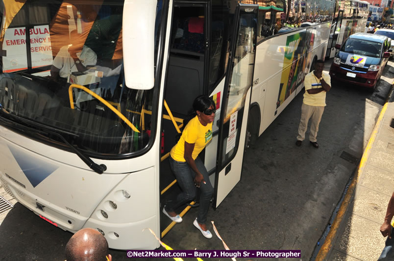
[[[241,179],[256,52],[258,5],[239,4],[234,15],[220,116],[215,174],[216,208]]]

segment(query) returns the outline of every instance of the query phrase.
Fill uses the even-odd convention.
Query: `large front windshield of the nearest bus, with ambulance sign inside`
[[[68,142],[93,155],[147,147],[153,89],[125,86],[123,0],[0,3],[1,117],[12,114],[68,132]],[[155,59],[157,49],[155,44]],[[42,136],[63,146],[56,137]]]

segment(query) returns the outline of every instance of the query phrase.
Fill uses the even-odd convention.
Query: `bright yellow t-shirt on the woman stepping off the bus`
[[[198,116],[194,117],[186,125],[178,143],[172,147],[170,155],[176,161],[185,162],[185,141],[187,143],[195,143],[192,152],[192,158],[196,159],[198,154],[205,148],[205,145],[212,139],[212,123],[203,126],[198,120]]]

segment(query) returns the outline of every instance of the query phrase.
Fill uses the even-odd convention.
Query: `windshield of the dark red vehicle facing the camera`
[[[346,43],[342,45],[341,51],[379,58],[382,52],[382,43],[349,38]]]

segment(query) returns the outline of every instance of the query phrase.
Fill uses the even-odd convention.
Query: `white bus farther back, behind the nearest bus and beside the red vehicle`
[[[331,25],[327,58],[336,54],[335,44],[345,43],[350,35],[364,33],[369,15],[369,2],[361,0],[335,2],[335,16]]]

